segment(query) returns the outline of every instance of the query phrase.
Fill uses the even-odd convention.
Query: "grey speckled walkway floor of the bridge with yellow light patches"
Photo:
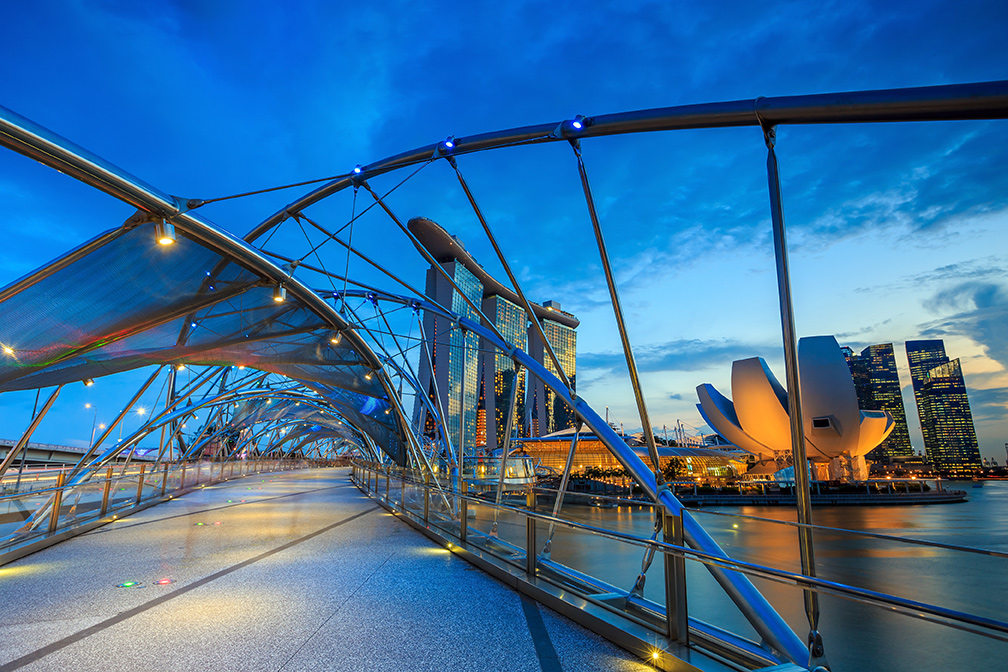
[[[208,487],[0,567],[0,672],[74,669],[651,668],[340,468]]]

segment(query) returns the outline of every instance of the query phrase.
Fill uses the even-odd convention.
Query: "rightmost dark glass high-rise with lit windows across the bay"
[[[947,476],[973,476],[980,449],[959,360],[949,360],[941,341],[907,341],[906,359],[927,460]]]

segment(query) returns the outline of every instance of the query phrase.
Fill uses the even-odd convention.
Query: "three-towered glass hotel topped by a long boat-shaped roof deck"
[[[479,314],[459,295],[460,290],[465,292],[510,345],[526,351],[550,372],[556,373],[550,358],[543,352],[538,333],[531,327],[529,316],[521,307],[521,299],[513,290],[491,276],[466,251],[461,241],[436,223],[413,218],[408,228],[455,283],[453,286],[431,266],[427,269],[425,287],[428,297],[459,315],[479,321]],[[545,301],[541,305],[532,303],[532,310],[563,373],[574,385],[578,318],[561,310],[556,301]],[[528,380],[524,370],[515,376],[514,363],[507,355],[484,347],[476,334],[453,326],[444,317],[430,311],[424,313],[426,348],[420,354],[418,373],[421,389],[426,390],[435,407],[440,404],[453,445],[460,445],[462,439],[467,455],[473,454],[477,446],[486,445],[488,451],[499,447],[506,431],[514,385],[518,386],[518,396],[511,426],[519,436],[543,436],[574,425],[573,410],[542,381],[535,377]],[[427,357],[431,366],[423,361]],[[432,433],[433,419],[424,414],[426,409],[417,400],[414,419],[417,425],[423,426],[424,432]]]

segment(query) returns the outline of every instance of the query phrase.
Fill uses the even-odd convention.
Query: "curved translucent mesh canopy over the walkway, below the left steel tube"
[[[114,230],[0,291],[0,392],[155,364],[246,366],[307,385],[397,461],[404,444],[379,377],[354,339],[254,270],[177,232]],[[53,272],[53,268],[56,268]],[[16,290],[13,288],[17,288]]]

